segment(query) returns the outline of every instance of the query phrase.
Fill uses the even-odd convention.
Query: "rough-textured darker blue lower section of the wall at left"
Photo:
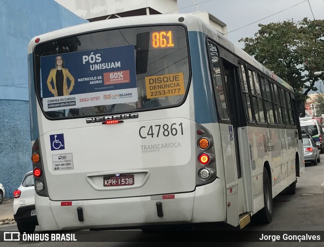
[[[0,183],[5,198],[12,198],[26,172],[32,169],[30,156],[29,102],[0,100]]]

